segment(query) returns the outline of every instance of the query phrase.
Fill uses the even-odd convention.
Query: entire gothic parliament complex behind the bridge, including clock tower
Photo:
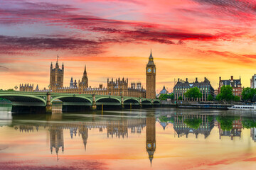
[[[130,96],[138,98],[156,98],[156,66],[152,53],[150,52],[149,62],[146,64],[146,89],[140,81],[131,82],[130,86],[128,79],[107,79],[107,87],[100,84],[99,87],[92,88],[89,86],[86,66],[82,74],[82,79],[76,81],[73,77],[70,79],[69,86],[63,86],[64,80],[64,64],[59,66],[58,57],[53,68],[53,63],[50,64],[50,85],[49,90],[55,93],[70,93],[70,94],[96,94],[96,95],[111,95],[111,96]],[[33,84],[20,84],[20,91],[48,91],[33,89]]]

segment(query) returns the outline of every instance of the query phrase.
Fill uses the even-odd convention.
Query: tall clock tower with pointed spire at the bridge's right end
[[[156,65],[152,52],[150,52],[149,62],[146,64],[146,98],[156,98]]]

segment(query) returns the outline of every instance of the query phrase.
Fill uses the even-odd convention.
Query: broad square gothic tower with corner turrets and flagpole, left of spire
[[[57,57],[57,62],[55,64],[54,69],[53,69],[53,63],[50,64],[50,89],[55,91],[55,89],[59,87],[63,87],[63,79],[64,79],[64,64],[60,69],[58,65],[58,57]]]

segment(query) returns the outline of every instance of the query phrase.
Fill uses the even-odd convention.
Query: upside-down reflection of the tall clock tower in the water
[[[154,115],[149,115],[146,118],[146,152],[149,153],[150,164],[156,150],[156,118]]]

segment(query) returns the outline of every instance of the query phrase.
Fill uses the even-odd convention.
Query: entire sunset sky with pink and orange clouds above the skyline
[[[255,74],[255,1],[1,1],[0,89],[48,86],[50,62],[65,65],[64,86],[81,79],[106,86],[107,77],[142,81],[152,49],[156,91],[174,79],[203,81]]]

